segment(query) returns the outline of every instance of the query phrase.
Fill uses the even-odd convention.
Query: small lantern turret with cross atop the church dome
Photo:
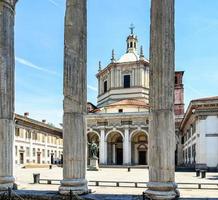
[[[130,26],[130,30],[131,30],[131,33],[130,35],[127,37],[127,53],[136,53],[137,52],[137,46],[138,46],[138,39],[137,39],[137,36],[134,35],[134,25],[131,24]]]

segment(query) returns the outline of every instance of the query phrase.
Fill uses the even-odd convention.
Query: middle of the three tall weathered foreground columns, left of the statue
[[[88,192],[86,180],[86,0],[67,0],[64,35],[63,180],[61,194]]]

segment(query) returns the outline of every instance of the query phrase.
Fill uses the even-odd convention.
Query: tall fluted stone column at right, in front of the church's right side
[[[174,199],[174,0],[151,1],[149,184],[151,199]]]

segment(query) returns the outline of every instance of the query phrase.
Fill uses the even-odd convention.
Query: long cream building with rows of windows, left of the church
[[[58,164],[63,159],[62,130],[15,114],[15,164]]]

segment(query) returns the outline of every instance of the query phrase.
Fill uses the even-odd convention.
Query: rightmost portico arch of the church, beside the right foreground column
[[[148,136],[144,131],[135,131],[131,134],[131,163],[148,164]]]

